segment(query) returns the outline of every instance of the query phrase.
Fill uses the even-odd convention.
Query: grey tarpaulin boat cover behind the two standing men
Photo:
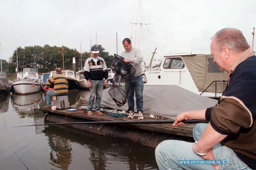
[[[118,107],[108,94],[108,89],[103,90],[101,106],[128,110],[128,104]],[[135,96],[135,95],[134,95]],[[136,98],[134,97],[136,110]],[[177,85],[144,85],[143,89],[144,113],[175,119],[176,115],[189,110],[202,110],[214,106],[217,100],[197,95]]]

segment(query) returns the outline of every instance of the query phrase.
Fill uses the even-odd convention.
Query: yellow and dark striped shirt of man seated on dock
[[[46,81],[46,88],[49,88],[49,85],[54,85],[54,93],[67,93],[68,92],[68,80],[65,75],[58,73],[50,77]]]

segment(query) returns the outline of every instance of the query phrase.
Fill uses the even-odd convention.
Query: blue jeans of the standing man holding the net
[[[136,97],[136,107],[137,111],[143,109],[143,81],[142,81],[142,75],[138,75],[136,77],[133,77],[132,79],[132,86],[129,89],[128,95],[127,95],[127,101],[128,101],[128,110],[132,110],[134,112],[134,91],[135,91],[135,97]]]

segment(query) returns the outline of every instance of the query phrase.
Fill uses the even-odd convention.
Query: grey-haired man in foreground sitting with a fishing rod
[[[256,56],[235,28],[224,28],[212,37],[211,53],[229,75],[224,95],[211,108],[176,116],[174,126],[187,119],[210,123],[196,124],[195,143],[161,142],[155,152],[160,170],[256,169]]]

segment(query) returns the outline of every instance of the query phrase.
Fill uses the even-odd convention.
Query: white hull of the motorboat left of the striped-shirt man
[[[33,84],[35,85],[33,87]],[[40,92],[41,83],[30,80],[18,80],[12,83],[14,92],[19,95],[28,95]]]

